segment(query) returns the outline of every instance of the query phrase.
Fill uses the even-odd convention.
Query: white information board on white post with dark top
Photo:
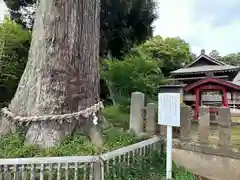
[[[166,179],[172,179],[172,127],[180,127],[181,88],[164,87],[158,94],[158,124],[167,126]]]

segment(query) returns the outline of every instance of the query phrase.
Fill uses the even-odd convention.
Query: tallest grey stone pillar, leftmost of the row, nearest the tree
[[[143,132],[143,110],[144,110],[144,94],[141,92],[134,92],[131,96],[130,108],[130,130],[136,135]]]

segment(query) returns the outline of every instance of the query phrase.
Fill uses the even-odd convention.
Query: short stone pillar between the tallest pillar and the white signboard
[[[156,111],[155,104],[148,103],[146,108],[146,133],[154,135],[156,133]]]

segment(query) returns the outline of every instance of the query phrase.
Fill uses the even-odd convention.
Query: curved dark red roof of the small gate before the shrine
[[[225,87],[228,87],[228,88],[231,88],[231,89],[235,89],[237,91],[240,91],[240,85],[238,84],[235,84],[233,82],[230,82],[230,81],[225,81],[223,79],[216,79],[216,78],[212,78],[212,77],[209,77],[209,78],[205,78],[205,79],[202,79],[200,81],[197,81],[193,84],[189,84],[185,87],[185,91],[190,91],[196,87],[199,87],[199,86],[202,86],[204,84],[218,84],[218,85],[221,85],[221,86],[225,86]]]

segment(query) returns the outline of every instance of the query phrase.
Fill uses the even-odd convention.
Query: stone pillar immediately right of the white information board
[[[191,112],[192,109],[190,106],[184,104],[181,105],[180,113],[180,139],[182,141],[188,141],[191,139]]]

